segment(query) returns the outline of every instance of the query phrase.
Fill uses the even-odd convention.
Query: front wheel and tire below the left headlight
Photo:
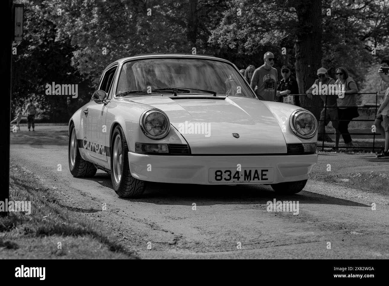
[[[128,146],[123,129],[118,125],[111,139],[111,180],[115,192],[121,198],[142,195],[146,182],[131,175],[128,162]]]

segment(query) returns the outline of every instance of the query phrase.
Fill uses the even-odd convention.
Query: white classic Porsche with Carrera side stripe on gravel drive
[[[317,121],[262,101],[235,65],[214,56],[147,54],[105,68],[69,121],[74,177],[111,174],[119,197],[145,184],[270,184],[301,191],[317,163]]]

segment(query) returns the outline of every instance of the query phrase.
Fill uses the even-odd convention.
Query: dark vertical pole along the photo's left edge
[[[12,40],[14,39],[14,9],[12,0],[7,0],[1,10],[1,18],[5,21],[4,44],[0,45],[0,63],[3,69],[4,97],[3,110],[0,112],[0,122],[4,128],[0,129],[0,150],[2,150],[2,171],[0,172],[0,201],[5,204],[9,199],[9,122],[11,121],[11,74],[12,74]],[[7,206],[5,206],[7,207]],[[8,212],[0,210],[0,216],[7,216]]]

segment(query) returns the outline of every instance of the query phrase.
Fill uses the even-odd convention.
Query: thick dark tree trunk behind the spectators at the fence
[[[293,6],[296,8],[298,18],[294,51],[296,80],[301,94],[312,86],[317,79],[317,69],[321,67],[322,5],[321,0],[296,0]],[[312,100],[300,96],[300,103],[319,120],[323,106],[319,96],[314,96]]]

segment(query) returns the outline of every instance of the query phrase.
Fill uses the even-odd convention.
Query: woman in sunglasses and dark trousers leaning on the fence
[[[349,133],[349,123],[353,118],[359,116],[358,105],[356,95],[358,92],[357,84],[354,79],[349,76],[349,72],[344,67],[336,69],[336,85],[342,84],[344,86],[344,96],[339,91],[338,98],[336,99],[338,104],[338,118],[339,118],[339,132],[342,133],[342,137],[346,147],[354,147],[352,139]],[[342,86],[342,89],[343,89]],[[344,120],[344,121],[341,121]],[[336,134],[335,136],[339,136]]]

